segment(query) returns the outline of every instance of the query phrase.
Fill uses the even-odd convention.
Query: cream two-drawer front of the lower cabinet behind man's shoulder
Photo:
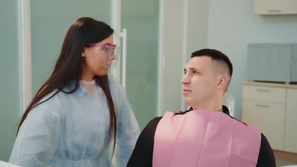
[[[285,95],[285,88],[243,86],[242,121],[259,128],[277,150],[283,150]]]

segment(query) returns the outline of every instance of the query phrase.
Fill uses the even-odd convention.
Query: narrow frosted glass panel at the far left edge
[[[21,113],[18,1],[0,1],[0,160],[8,161]]]

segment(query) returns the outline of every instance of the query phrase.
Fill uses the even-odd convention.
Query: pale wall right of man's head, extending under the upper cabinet
[[[241,120],[242,81],[247,80],[247,44],[297,42],[297,16],[257,16],[252,0],[210,0],[208,48],[224,52],[233,63],[229,91]]]

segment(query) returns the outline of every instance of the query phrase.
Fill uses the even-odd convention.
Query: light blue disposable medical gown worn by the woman
[[[71,91],[75,84],[73,81],[64,90]],[[21,166],[110,166],[106,149],[108,101],[95,85],[96,98],[80,85],[75,93],[59,92],[32,109],[20,128],[9,162]],[[113,164],[126,166],[140,131],[122,86],[113,76],[109,76],[109,85],[118,114]]]

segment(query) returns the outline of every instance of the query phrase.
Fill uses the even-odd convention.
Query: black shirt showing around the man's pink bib
[[[223,112],[230,116],[229,110],[226,106],[222,106]],[[186,114],[193,109],[187,110],[185,112],[176,113],[175,115]],[[231,116],[230,116],[231,117]],[[233,117],[232,117],[233,118]],[[156,117],[152,119],[145,128],[140,133],[135,148],[132,155],[128,161],[127,166],[152,166],[153,164],[153,151],[154,151],[154,139],[157,125],[162,117]],[[235,118],[233,118],[235,119]],[[266,137],[261,133],[261,145],[258,156],[258,162],[256,167],[275,167],[275,158],[272,148],[266,139]]]

